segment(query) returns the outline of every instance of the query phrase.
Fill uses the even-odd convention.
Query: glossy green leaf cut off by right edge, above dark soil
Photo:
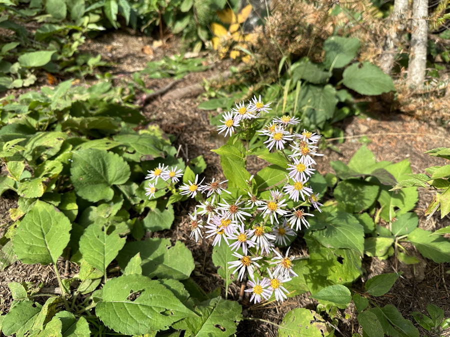
[[[450,241],[440,236],[430,236],[430,234],[431,231],[416,228],[407,239],[425,258],[435,263],[450,262]]]

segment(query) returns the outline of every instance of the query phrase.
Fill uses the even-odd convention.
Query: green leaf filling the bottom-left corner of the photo
[[[23,301],[12,307],[3,319],[1,332],[5,336],[15,334],[20,329],[26,333],[34,324],[42,306],[31,301]]]

